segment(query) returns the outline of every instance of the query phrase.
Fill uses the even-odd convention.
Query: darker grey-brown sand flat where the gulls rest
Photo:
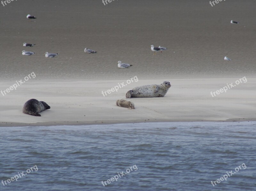
[[[31,72],[35,80],[255,77],[255,5],[255,0],[213,7],[207,0],[0,4],[0,78],[19,80]],[[240,23],[230,24],[231,19]],[[23,42],[36,45],[26,48]],[[154,56],[151,44],[168,50]],[[98,53],[85,54],[85,47]],[[22,56],[22,50],[36,54]],[[60,55],[45,58],[46,51]],[[133,66],[118,69],[119,60]]]

